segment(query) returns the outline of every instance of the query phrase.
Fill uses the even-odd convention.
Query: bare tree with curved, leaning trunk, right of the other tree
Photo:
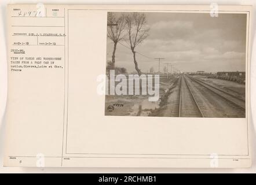
[[[147,19],[144,13],[134,12],[126,14],[125,20],[135,69],[138,75],[141,75],[141,70],[138,68],[138,62],[136,61],[135,47],[148,36],[149,29],[146,28]]]

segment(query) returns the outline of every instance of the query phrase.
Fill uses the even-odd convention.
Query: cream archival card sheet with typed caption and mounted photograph
[[[4,165],[250,167],[251,10],[9,5]]]

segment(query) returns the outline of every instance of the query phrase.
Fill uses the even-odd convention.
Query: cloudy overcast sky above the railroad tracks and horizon
[[[192,71],[245,71],[246,14],[209,13],[145,13],[149,36],[136,51],[138,67],[147,72],[151,67],[158,71],[158,61],[165,58],[182,72]],[[127,43],[123,42],[124,45]],[[128,46],[128,45],[127,45]],[[113,43],[108,39],[107,60],[111,60]],[[133,56],[129,49],[118,45],[116,66],[133,72]],[[174,69],[173,68],[173,69]]]

